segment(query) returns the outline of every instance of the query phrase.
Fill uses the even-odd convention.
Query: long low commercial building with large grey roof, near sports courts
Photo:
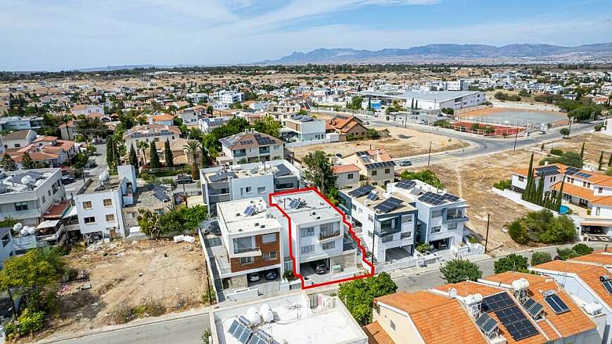
[[[410,108],[414,99],[415,107],[423,110],[469,108],[482,105],[487,101],[485,94],[480,91],[404,91],[403,93],[362,91],[358,94],[364,97],[378,98],[388,104],[393,103],[393,101],[401,101],[404,108]]]

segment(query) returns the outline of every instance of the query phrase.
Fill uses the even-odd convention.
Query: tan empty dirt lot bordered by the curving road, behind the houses
[[[317,144],[290,149],[295,153],[295,158],[298,159],[302,159],[305,155],[313,151],[324,151],[332,155],[340,153],[342,156],[346,156],[370,148],[384,148],[393,158],[404,158],[427,153],[429,151],[430,141],[432,153],[450,151],[468,146],[468,143],[465,141],[451,139],[442,134],[423,133],[414,129],[397,127],[374,127],[374,129],[388,129],[390,136],[377,140],[336,142],[333,144]]]

